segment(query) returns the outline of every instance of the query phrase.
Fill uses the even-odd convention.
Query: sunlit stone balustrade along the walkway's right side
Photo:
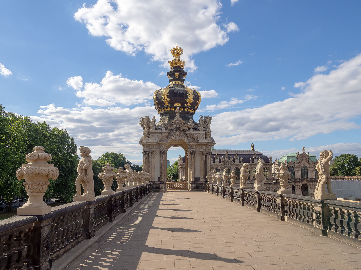
[[[209,184],[203,191],[361,248],[360,203]]]

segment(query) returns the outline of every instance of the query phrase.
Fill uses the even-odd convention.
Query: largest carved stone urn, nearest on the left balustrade
[[[16,177],[20,181],[25,179],[23,186],[29,196],[29,200],[18,208],[19,216],[40,216],[51,212],[51,206],[43,201],[45,192],[48,190],[49,179],[56,180],[59,176],[59,170],[51,161],[51,154],[44,152],[44,147],[35,146],[34,152],[26,155],[27,164],[22,164],[16,171]]]

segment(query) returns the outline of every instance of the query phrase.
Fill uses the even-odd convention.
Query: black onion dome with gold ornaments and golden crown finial
[[[171,67],[170,71],[167,72],[169,86],[155,91],[153,95],[154,106],[161,118],[170,116],[168,120],[176,117],[175,109],[179,107],[181,118],[188,122],[193,120],[193,114],[201,102],[201,95],[198,91],[189,89],[184,85],[187,72],[183,70],[186,62],[179,59],[183,53],[182,48],[175,46],[170,52],[174,59],[168,62]]]

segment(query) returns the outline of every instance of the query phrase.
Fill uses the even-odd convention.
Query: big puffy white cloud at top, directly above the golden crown
[[[229,40],[227,31],[238,28],[229,23],[222,30],[217,24],[221,8],[217,0],[98,0],[84,5],[74,18],[85,23],[91,35],[105,36],[112,48],[130,55],[144,50],[164,67],[172,58],[170,49],[178,43],[192,72],[196,69],[192,55],[224,45]]]

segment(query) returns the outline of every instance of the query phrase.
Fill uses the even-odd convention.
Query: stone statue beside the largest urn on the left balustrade
[[[80,156],[82,159],[78,164],[78,177],[75,180],[75,187],[77,189],[77,194],[74,196],[74,202],[90,202],[95,200],[94,193],[94,180],[93,180],[93,169],[91,167],[91,156],[90,149],[85,146],[79,147]],[[84,194],[82,195],[82,187],[84,189]]]

